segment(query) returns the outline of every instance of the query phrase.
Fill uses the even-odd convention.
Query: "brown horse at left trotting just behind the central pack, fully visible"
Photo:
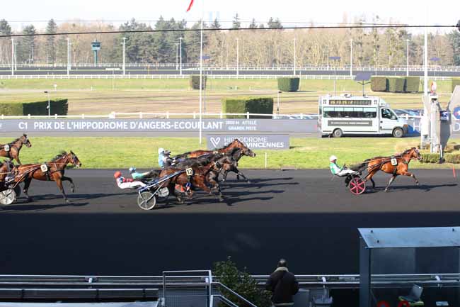
[[[27,196],[28,201],[32,201],[32,198],[27,194],[32,179],[42,181],[53,181],[56,182],[57,187],[64,196],[66,203],[69,203],[69,199],[64,192],[62,182],[67,181],[71,184],[71,191],[75,191],[74,181],[70,177],[65,177],[64,172],[67,164],[73,164],[75,167],[81,167],[81,162],[74,152],[62,152],[60,155],[54,157],[50,162],[44,164],[23,164],[16,167],[15,179],[16,184],[24,182],[24,194]],[[46,166],[46,167],[45,167]],[[46,169],[43,170],[42,169]]]

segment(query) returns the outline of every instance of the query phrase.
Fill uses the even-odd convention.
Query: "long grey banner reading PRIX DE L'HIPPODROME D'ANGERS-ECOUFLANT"
[[[0,132],[190,132],[200,129],[197,119],[7,119]],[[316,121],[272,119],[204,119],[203,132],[311,133]]]

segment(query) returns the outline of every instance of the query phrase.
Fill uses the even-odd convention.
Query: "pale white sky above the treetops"
[[[416,1],[416,0],[195,0],[189,13],[186,9],[190,0],[20,0],[2,1],[0,19],[5,18],[14,30],[21,30],[25,25],[33,23],[36,28],[45,28],[45,23],[54,18],[57,21],[127,21],[136,18],[140,21],[154,21],[164,18],[197,21],[202,16],[204,4],[205,21],[218,18],[231,21],[236,13],[240,16],[243,26],[252,18],[258,23],[268,21],[270,17],[280,18],[284,26],[302,26],[311,21],[315,23],[338,23],[346,14],[349,21],[358,16],[366,16],[371,22],[378,15],[383,21],[398,23],[425,23],[425,6],[429,6],[430,24],[456,24],[460,19],[458,9],[454,9],[454,1]],[[446,9],[452,7],[452,9]],[[119,25],[120,22],[113,22]],[[450,29],[449,29],[450,30]]]

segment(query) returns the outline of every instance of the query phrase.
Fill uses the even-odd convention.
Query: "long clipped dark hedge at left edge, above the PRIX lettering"
[[[48,115],[48,101],[0,103],[0,114],[6,116]],[[67,99],[50,100],[51,114],[67,115]]]

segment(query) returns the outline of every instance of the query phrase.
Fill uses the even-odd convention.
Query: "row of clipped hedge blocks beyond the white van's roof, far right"
[[[418,93],[420,77],[372,77],[372,91],[392,93]]]

